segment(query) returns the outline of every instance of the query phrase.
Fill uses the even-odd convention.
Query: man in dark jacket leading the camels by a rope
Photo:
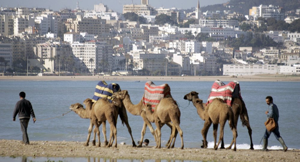
[[[27,126],[29,123],[30,115],[32,116],[33,123],[36,121],[35,113],[33,112],[31,103],[25,99],[25,92],[20,92],[20,101],[16,103],[15,110],[13,111],[13,121],[16,121],[16,115],[18,114],[21,131],[23,133],[23,143],[29,145],[29,139],[27,135]]]

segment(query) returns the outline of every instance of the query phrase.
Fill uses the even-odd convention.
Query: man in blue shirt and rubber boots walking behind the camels
[[[273,98],[271,96],[267,96],[265,98],[265,102],[267,102],[267,105],[269,105],[269,109],[265,112],[265,114],[267,114],[268,118],[273,118],[277,127],[273,130],[273,131],[268,131],[267,129],[265,129],[265,135],[263,137],[263,148],[262,151],[268,151],[267,147],[268,147],[268,138],[271,135],[271,132],[273,132],[275,138],[281,143],[282,147],[283,147],[283,151],[286,152],[287,147],[283,141],[283,139],[280,137],[280,133],[279,133],[279,125],[278,125],[278,119],[279,119],[279,111],[277,106],[273,103]]]

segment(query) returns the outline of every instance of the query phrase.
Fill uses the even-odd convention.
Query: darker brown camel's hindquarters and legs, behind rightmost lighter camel
[[[250,150],[254,150],[253,142],[252,142],[252,129],[250,127],[249,116],[248,116],[247,108],[246,108],[244,101],[241,100],[240,98],[232,98],[232,111],[235,116],[235,125],[238,125],[238,116],[240,116],[242,126],[246,125],[246,127],[248,128],[248,133],[249,133],[250,142],[251,142]],[[233,144],[233,140],[232,140],[230,146],[227,147],[226,149],[231,149],[232,144]],[[221,148],[224,148],[224,140],[223,139],[222,139],[222,143],[221,143]]]

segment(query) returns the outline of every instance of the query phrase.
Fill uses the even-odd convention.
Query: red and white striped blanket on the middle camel
[[[168,98],[171,96],[171,89],[168,84],[155,85],[152,81],[147,81],[145,84],[145,91],[143,96],[143,104],[151,104],[152,111],[163,98]]]

